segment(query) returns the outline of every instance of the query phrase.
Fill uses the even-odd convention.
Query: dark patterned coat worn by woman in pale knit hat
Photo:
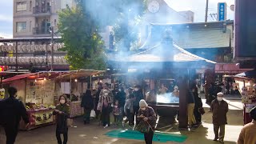
[[[146,106],[146,110],[138,110],[137,116],[139,117],[140,115],[144,115],[144,117],[149,118],[147,122],[149,122],[151,128],[154,129],[157,121],[157,115],[155,114],[154,109],[150,106]],[[143,121],[143,119],[138,118],[138,121]]]

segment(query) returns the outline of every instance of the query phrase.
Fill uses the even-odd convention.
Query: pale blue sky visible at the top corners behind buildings
[[[165,0],[174,10],[191,10],[194,12],[195,22],[204,22],[206,0]],[[227,19],[234,19],[234,12],[230,10],[234,0],[209,0],[209,14],[218,12],[218,2],[227,3]],[[13,34],[13,0],[0,0],[0,37],[9,38]],[[209,21],[214,18],[208,17]]]

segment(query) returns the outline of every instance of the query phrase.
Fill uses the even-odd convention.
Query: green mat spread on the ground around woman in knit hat
[[[186,136],[185,135],[178,135],[178,134],[165,134],[165,133],[156,133],[158,138],[154,135],[153,141],[155,142],[185,142]],[[127,138],[127,139],[137,139],[137,140],[144,140],[144,135],[136,130],[111,130],[107,132],[105,135],[111,138]]]

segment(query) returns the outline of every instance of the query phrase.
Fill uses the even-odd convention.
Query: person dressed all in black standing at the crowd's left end
[[[82,96],[81,107],[84,110],[83,122],[84,124],[90,123],[90,112],[94,108],[94,99],[92,98],[90,90],[86,90],[86,93]]]

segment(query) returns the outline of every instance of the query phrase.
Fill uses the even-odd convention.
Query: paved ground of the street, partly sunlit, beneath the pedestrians
[[[205,101],[205,100],[204,100]],[[228,113],[228,125],[226,126],[226,144],[234,144],[238,139],[238,134],[242,128],[243,117],[242,117],[242,103],[238,100],[228,101],[230,111]],[[167,129],[166,131],[171,134],[183,134],[188,138],[186,142],[188,144],[214,144],[213,142],[214,130],[211,125],[211,113],[208,112],[209,106],[204,104],[206,107],[206,114],[203,116],[203,124],[197,130],[192,131],[179,131],[174,128]],[[175,126],[170,126],[175,127]],[[104,129],[102,126],[98,126],[98,122],[93,122],[90,126],[84,126],[82,124],[82,118],[76,118],[74,120],[74,127],[69,130],[69,143],[71,144],[142,144],[144,142],[138,140],[128,140],[122,138],[109,138],[106,137],[107,131],[113,130],[114,127]],[[45,126],[36,130],[22,131],[18,134],[17,144],[56,144],[55,139],[55,127]],[[1,138],[3,136],[1,135]],[[3,138],[2,138],[3,139]],[[0,141],[2,143],[2,141]],[[160,142],[154,142],[160,143]],[[175,143],[175,142],[167,142]]]

